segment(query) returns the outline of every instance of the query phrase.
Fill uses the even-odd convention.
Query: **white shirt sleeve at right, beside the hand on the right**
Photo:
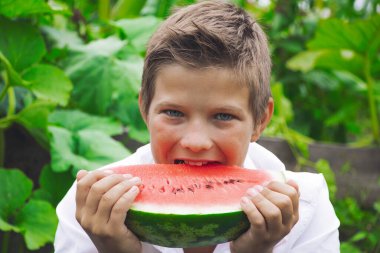
[[[339,220],[329,199],[322,174],[287,172],[300,188],[299,221],[276,245],[274,253],[340,252]]]

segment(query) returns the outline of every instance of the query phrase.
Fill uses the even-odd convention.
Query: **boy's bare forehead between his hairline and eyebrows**
[[[228,68],[186,68],[168,65],[156,77],[154,103],[193,102],[194,106],[234,104],[247,109],[249,89]]]

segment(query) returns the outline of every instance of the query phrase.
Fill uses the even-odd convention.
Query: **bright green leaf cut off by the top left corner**
[[[45,0],[0,0],[0,14],[9,18],[50,12]]]

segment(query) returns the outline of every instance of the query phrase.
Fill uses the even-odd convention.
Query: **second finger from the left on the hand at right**
[[[256,185],[247,191],[252,203],[264,217],[269,233],[279,231],[282,227],[281,210],[265,197],[270,194],[270,191],[261,185]]]

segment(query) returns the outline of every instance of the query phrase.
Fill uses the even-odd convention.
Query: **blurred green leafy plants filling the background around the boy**
[[[2,253],[52,252],[55,207],[77,170],[148,141],[137,105],[145,45],[172,8],[192,2],[0,0]],[[287,140],[300,168],[324,173],[341,251],[380,252],[380,202],[335,198],[329,163],[308,159],[314,141],[380,145],[379,1],[232,2],[258,18],[270,40],[277,106],[265,134]],[[9,166],[24,135],[34,142],[31,155],[46,156]]]

